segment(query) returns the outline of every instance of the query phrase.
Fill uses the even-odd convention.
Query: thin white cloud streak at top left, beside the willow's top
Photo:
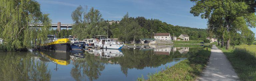
[[[59,1],[50,1],[50,0],[38,0],[38,1],[43,2],[43,3],[48,3],[48,4],[58,4],[58,5],[66,5],[66,6],[74,6],[74,7],[79,6],[79,5],[76,5],[76,4],[59,2]]]

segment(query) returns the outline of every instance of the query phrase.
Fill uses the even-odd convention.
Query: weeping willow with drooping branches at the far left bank
[[[31,27],[29,24],[45,26]],[[40,4],[34,0],[0,1],[0,38],[6,42],[4,51],[18,51],[39,45],[39,41],[47,37],[49,24],[48,15],[42,14]]]

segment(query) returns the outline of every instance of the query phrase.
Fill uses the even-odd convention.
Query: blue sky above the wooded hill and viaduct
[[[94,7],[105,20],[121,20],[128,12],[129,17],[143,16],[147,19],[159,19],[174,26],[207,28],[207,19],[195,17],[189,13],[195,3],[190,0],[36,0],[41,11],[49,14],[52,23],[74,23],[71,13],[79,5]],[[256,28],[251,29],[256,33]]]

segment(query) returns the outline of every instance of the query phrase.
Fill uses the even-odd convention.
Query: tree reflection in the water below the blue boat
[[[74,66],[71,69],[71,75],[75,80],[80,81],[87,76],[89,80],[98,79],[101,71],[105,69],[104,63],[99,57],[85,54],[84,60],[73,60]]]

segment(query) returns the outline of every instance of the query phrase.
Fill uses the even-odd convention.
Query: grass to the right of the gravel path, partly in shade
[[[256,45],[240,45],[229,50],[220,49],[230,61],[240,80],[256,80]]]

